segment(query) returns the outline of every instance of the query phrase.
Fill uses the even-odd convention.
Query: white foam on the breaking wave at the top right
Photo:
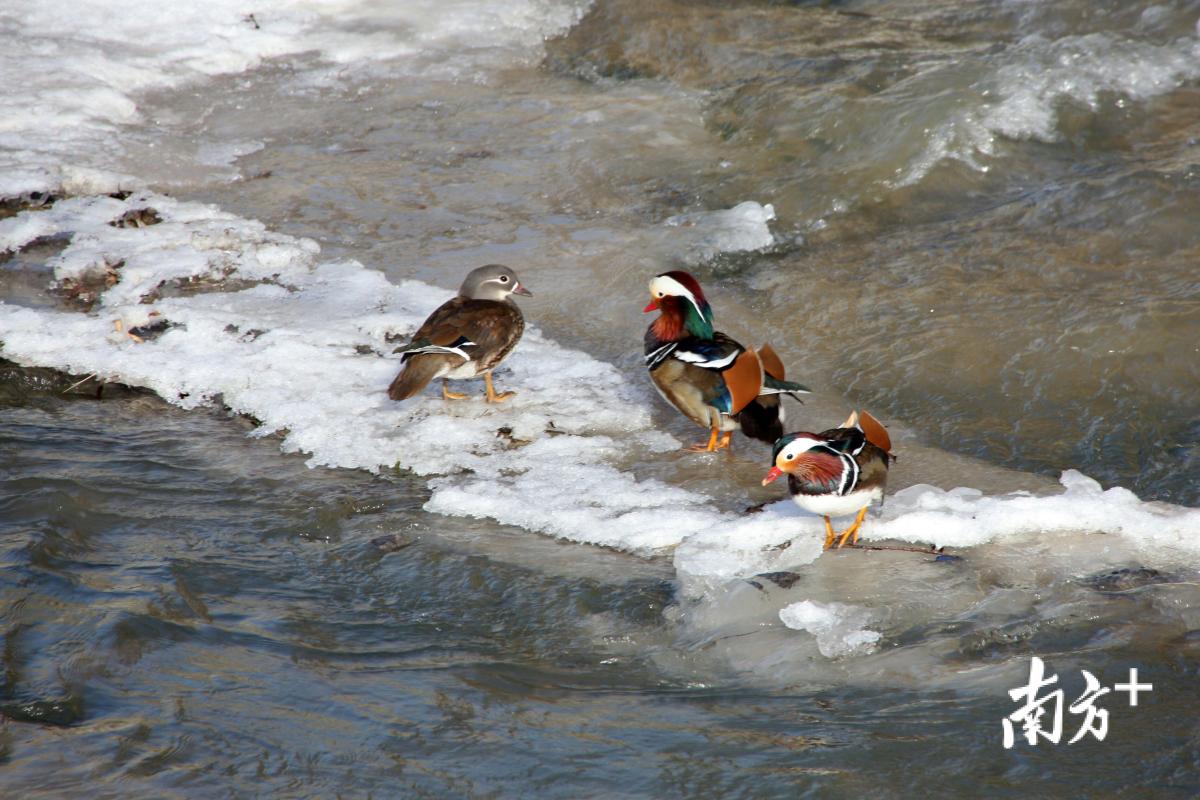
[[[986,172],[980,156],[995,155],[996,137],[1057,142],[1064,102],[1100,113],[1104,92],[1141,101],[1200,77],[1195,38],[1152,44],[1109,34],[1055,41],[1033,35],[1000,59],[1001,65],[971,88],[982,103],[953,112],[925,132],[925,149],[898,181],[900,186],[916,184],[947,158]]]

